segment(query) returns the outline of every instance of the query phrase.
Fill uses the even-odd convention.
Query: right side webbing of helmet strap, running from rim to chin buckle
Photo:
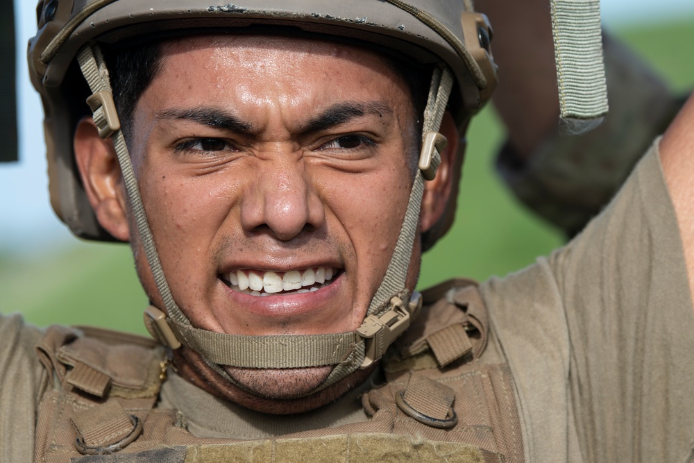
[[[453,75],[450,69],[448,67],[443,69],[437,67],[434,70],[432,85],[429,90],[429,99],[424,110],[424,133],[439,130],[443,113],[446,112],[446,104],[448,103],[448,96],[452,86]],[[441,155],[434,149],[432,165],[438,167],[440,163]],[[393,257],[388,265],[383,281],[373,296],[371,305],[369,305],[369,312],[367,312],[369,315],[378,314],[377,309],[382,308],[383,304],[389,301],[393,294],[405,287],[409,261],[412,258],[414,236],[419,223],[419,211],[423,193],[424,177],[422,172],[417,169],[414,176],[414,184],[412,185],[412,193],[409,196],[409,203],[407,203],[403,227],[400,230]]]

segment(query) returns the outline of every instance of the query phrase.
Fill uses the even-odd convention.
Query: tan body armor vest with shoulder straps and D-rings
[[[370,421],[253,441],[196,437],[177,410],[155,407],[168,364],[162,346],[51,327],[37,346],[47,384],[35,460],[523,462],[513,381],[488,342],[477,287],[452,280],[423,297],[418,319],[382,361],[387,384],[362,398]]]

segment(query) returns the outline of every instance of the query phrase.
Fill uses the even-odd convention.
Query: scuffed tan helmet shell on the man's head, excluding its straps
[[[87,202],[72,151],[76,122],[90,114],[89,93],[74,72],[78,50],[90,41],[114,43],[184,28],[284,25],[352,37],[394,49],[416,62],[446,63],[457,85],[450,101],[458,121],[479,110],[496,86],[491,28],[469,1],[43,0],[39,30],[29,43],[31,81],[42,96],[51,205],[76,235],[113,240]],[[69,72],[73,67],[72,72]],[[455,195],[453,195],[455,196]],[[455,201],[455,198],[454,200]],[[455,208],[455,205],[453,205]],[[451,211],[452,212],[452,211]],[[452,214],[443,221],[452,221]],[[445,233],[439,225],[430,244]]]

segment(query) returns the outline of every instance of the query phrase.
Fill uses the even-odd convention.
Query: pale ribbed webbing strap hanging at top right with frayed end
[[[599,0],[550,0],[559,109],[564,129],[583,133],[607,114]]]

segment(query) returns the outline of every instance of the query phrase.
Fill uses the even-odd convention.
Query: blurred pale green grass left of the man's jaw
[[[128,246],[80,242],[56,255],[0,260],[0,312],[38,326],[105,326],[145,333],[147,298]]]

